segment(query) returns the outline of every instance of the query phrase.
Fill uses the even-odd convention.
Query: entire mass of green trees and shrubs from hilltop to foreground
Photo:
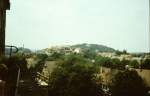
[[[147,88],[141,77],[135,71],[125,70],[125,67],[128,65],[132,68],[150,69],[150,59],[143,59],[142,64],[139,64],[137,60],[102,57],[97,53],[104,51],[116,52],[117,56],[129,53],[126,50],[115,51],[96,44],[78,44],[71,47],[73,49],[69,49],[69,51],[61,48],[47,50],[50,53],[48,55],[42,50],[32,53],[28,49],[24,51],[23,48],[19,48],[17,54],[0,60],[0,79],[7,80],[9,86],[10,84],[15,86],[18,68],[20,68],[20,78],[23,80],[19,86],[21,96],[31,94],[32,96],[47,96],[47,90],[49,96],[103,96],[104,93],[107,93],[104,91],[109,92],[107,89],[102,89],[102,79],[100,77],[102,75],[99,76],[98,73],[100,67],[104,66],[121,71],[112,79],[111,87],[106,85],[111,88],[112,96],[147,96]],[[81,48],[81,51],[75,53],[72,51],[75,48]],[[31,62],[36,61],[33,64],[34,66],[29,69],[27,68],[27,58]],[[37,80],[39,80],[37,79],[37,72],[43,72],[45,61],[57,62],[57,64],[55,64],[50,74],[49,87],[42,89],[37,84]],[[112,75],[114,76],[114,74]],[[40,90],[43,91],[40,92]],[[141,91],[137,92],[137,90]]]

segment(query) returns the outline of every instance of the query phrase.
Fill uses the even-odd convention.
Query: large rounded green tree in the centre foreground
[[[59,62],[49,80],[49,96],[99,96],[96,70],[81,56],[69,56]]]

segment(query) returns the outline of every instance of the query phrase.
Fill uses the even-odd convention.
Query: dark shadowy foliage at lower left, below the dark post
[[[6,91],[9,96],[14,96],[18,70],[21,70],[20,78],[27,76],[26,60],[21,56],[1,58],[0,60],[0,79],[6,81]]]

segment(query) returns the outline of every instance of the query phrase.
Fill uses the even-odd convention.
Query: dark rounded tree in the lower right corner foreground
[[[118,72],[112,81],[112,96],[147,96],[148,90],[136,71]]]

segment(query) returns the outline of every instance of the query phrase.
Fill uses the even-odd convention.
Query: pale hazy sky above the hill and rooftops
[[[149,51],[149,0],[10,0],[6,44],[42,49],[93,43]]]

